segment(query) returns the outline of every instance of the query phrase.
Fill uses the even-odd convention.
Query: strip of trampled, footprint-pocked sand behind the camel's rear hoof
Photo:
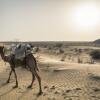
[[[90,91],[92,91],[90,93]],[[60,86],[44,86],[43,96],[46,100],[100,100],[100,88],[90,88],[84,91],[84,88],[61,88]]]

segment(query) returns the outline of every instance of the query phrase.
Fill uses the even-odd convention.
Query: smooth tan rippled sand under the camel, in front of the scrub
[[[100,65],[66,63],[44,54],[39,55],[38,66],[42,78],[43,94],[37,97],[38,82],[27,89],[31,73],[17,68],[19,87],[12,75],[5,84],[10,71],[9,65],[0,60],[0,100],[100,100]]]

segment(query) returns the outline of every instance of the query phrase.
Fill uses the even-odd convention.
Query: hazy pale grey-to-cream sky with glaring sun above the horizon
[[[0,41],[100,38],[100,0],[0,0]]]

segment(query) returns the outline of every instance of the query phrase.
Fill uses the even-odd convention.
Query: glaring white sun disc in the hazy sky
[[[74,10],[74,24],[81,29],[95,27],[99,21],[99,10],[95,5],[81,5]]]

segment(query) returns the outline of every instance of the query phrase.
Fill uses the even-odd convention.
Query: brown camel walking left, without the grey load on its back
[[[16,59],[14,54],[10,54],[8,56],[5,56],[5,54],[4,54],[4,46],[0,46],[0,55],[1,55],[2,60],[4,62],[8,62],[9,65],[10,65],[10,68],[11,68],[11,71],[9,73],[9,77],[8,77],[8,80],[7,80],[6,83],[9,83],[10,76],[11,76],[11,74],[13,72],[14,76],[15,76],[15,79],[16,79],[16,85],[13,88],[17,88],[18,87],[18,81],[17,81],[17,74],[16,74],[16,71],[15,71],[15,68],[18,67],[18,66],[23,66],[23,65],[25,66],[25,65],[27,65],[27,67],[30,69],[30,72],[32,73],[32,82],[28,86],[28,88],[32,87],[33,82],[34,82],[35,77],[36,77],[37,80],[38,80],[38,83],[39,83],[39,93],[38,93],[38,95],[42,94],[41,78],[40,78],[40,76],[38,74],[39,69],[37,67],[36,59],[35,59],[35,57],[32,54],[27,55],[21,61],[21,60]]]

